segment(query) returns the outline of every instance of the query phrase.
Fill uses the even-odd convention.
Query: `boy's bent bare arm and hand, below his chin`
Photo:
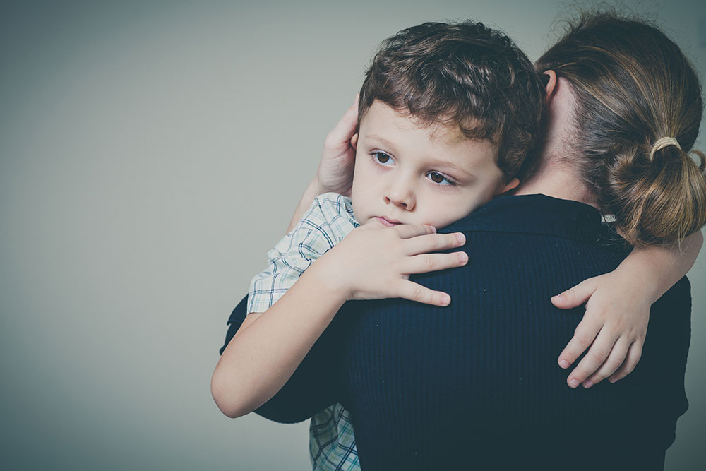
[[[402,297],[448,305],[448,294],[408,279],[412,273],[467,262],[464,252],[430,254],[465,242],[462,234],[435,232],[430,226],[372,223],[354,229],[314,261],[270,309],[244,323],[226,347],[211,380],[220,410],[240,417],[272,398],[347,299]]]

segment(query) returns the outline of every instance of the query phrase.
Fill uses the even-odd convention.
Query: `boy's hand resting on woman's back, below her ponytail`
[[[642,354],[650,319],[650,296],[635,278],[618,270],[589,278],[551,298],[559,309],[586,303],[586,313],[573,338],[559,355],[558,363],[568,368],[589,346],[590,350],[571,371],[567,383],[590,388],[610,376],[614,383],[635,369]]]

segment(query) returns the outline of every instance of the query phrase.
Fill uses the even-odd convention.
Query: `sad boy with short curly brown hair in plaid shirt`
[[[276,393],[345,300],[449,304],[447,294],[409,281],[409,274],[467,262],[464,252],[429,254],[464,242],[462,234],[433,232],[517,186],[515,175],[539,133],[542,90],[527,57],[481,23],[424,23],[383,43],[361,88],[351,198],[318,196],[251,283],[249,318],[282,297],[280,312],[301,319],[312,293],[320,316],[295,342],[306,345],[279,342],[287,365],[277,362],[274,374],[240,381],[255,390],[244,409],[227,415],[250,412]],[[311,276],[302,277],[305,270]],[[294,286],[309,293],[299,304],[285,295]],[[278,328],[291,332],[285,322]],[[340,404],[312,418],[310,451],[315,469],[359,466]]]

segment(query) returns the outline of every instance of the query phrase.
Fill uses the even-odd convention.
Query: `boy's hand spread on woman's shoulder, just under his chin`
[[[409,281],[412,273],[427,273],[465,265],[465,252],[435,254],[465,244],[463,234],[436,234],[426,225],[384,227],[369,222],[315,261],[325,268],[323,279],[345,299],[405,298],[447,306],[448,294]],[[311,269],[310,268],[310,269]]]

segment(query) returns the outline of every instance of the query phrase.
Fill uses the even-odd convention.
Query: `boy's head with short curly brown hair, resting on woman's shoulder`
[[[377,216],[442,227],[516,185],[513,177],[539,135],[543,93],[525,54],[481,23],[424,23],[385,40],[360,92],[352,191],[359,222]],[[446,172],[449,159],[468,178]],[[366,172],[371,162],[381,172]],[[408,163],[421,172],[417,179]],[[362,207],[373,204],[363,203],[370,199],[364,193],[414,196],[419,189],[429,190],[417,196],[431,197],[433,214],[420,214],[427,200],[419,197],[410,205],[379,194],[381,207]]]

